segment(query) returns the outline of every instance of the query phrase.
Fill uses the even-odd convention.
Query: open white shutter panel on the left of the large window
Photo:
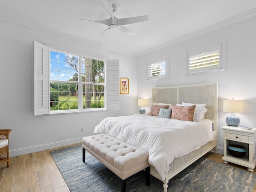
[[[50,54],[49,47],[34,41],[34,53],[33,53],[34,115],[48,114],[50,112],[49,54]]]

